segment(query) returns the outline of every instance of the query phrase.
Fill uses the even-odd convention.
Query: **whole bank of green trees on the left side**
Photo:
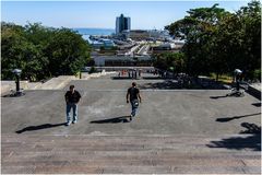
[[[88,44],[69,28],[4,22],[1,27],[2,79],[12,79],[15,68],[22,69],[22,79],[31,81],[76,74],[90,61]]]

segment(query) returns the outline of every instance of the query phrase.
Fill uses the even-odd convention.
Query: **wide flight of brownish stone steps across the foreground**
[[[2,135],[1,173],[260,174],[260,135]]]

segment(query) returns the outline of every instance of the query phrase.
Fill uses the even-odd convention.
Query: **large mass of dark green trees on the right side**
[[[189,74],[216,72],[218,78],[238,68],[251,78],[261,65],[261,4],[251,1],[236,13],[217,5],[191,9],[166,30],[186,39],[182,51]]]

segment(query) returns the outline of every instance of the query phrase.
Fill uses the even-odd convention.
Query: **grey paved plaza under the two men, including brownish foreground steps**
[[[140,79],[142,104],[130,122],[132,81],[71,81],[82,101],[69,127],[68,86],[2,97],[2,173],[261,173],[259,100]]]

